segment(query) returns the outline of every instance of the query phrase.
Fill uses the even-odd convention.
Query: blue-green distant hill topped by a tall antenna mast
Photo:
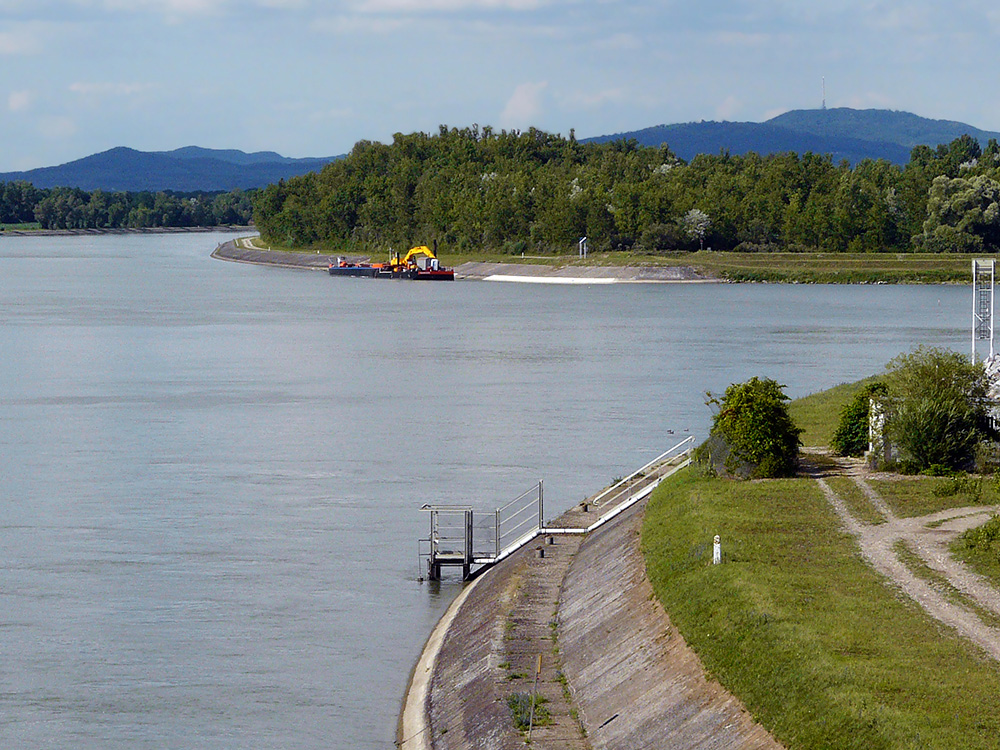
[[[863,159],[886,159],[906,164],[918,144],[937,146],[968,133],[984,146],[991,133],[961,122],[929,120],[909,112],[884,109],[794,110],[766,122],[691,122],[657,125],[642,130],[587,138],[604,143],[634,138],[644,146],[666,144],[680,158],[690,161],[697,154],[772,154],[812,151],[830,154],[834,162],[846,159],[856,164]]]

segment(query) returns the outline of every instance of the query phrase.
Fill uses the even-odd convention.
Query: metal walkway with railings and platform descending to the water
[[[624,479],[564,513],[565,524],[547,527],[543,484],[488,513],[490,523],[477,526],[467,505],[424,505],[430,514],[430,535],[418,541],[421,570],[441,579],[445,567],[461,567],[463,579],[474,578],[542,535],[586,534],[645,499],[671,474],[691,463],[694,437],[688,437]],[[478,535],[476,532],[479,532]]]

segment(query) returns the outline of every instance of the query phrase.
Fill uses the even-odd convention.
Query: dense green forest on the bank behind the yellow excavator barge
[[[258,192],[272,242],[374,252],[928,252],[1000,249],[1000,146],[917,146],[905,166],[828,156],[699,155],[478,126],[362,141]]]

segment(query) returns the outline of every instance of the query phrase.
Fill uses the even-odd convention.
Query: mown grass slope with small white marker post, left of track
[[[997,746],[998,665],[893,593],[814,481],[682,472],[642,540],[676,627],[790,750]]]

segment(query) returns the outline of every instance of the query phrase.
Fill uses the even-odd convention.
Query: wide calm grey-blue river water
[[[331,279],[222,236],[0,238],[0,746],[391,747],[457,584],[425,502],[551,517],[926,343],[966,288]],[[673,431],[671,435],[668,431]]]

